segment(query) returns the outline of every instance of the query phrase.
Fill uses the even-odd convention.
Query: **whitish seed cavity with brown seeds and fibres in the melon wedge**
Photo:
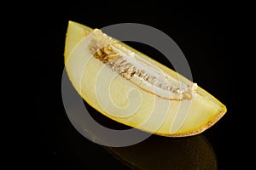
[[[110,37],[102,34],[99,30],[95,32],[96,36],[90,42],[90,53],[112,71],[136,83],[149,93],[156,94],[164,99],[193,98],[193,92],[197,88],[196,83],[185,84],[167,76],[160,70],[157,71],[155,68],[151,68],[150,64],[143,63],[145,59],[136,59],[133,57],[136,54],[131,53],[131,51],[130,54],[124,53],[120,50],[121,47],[117,42],[111,40]],[[98,37],[102,39],[98,40]]]

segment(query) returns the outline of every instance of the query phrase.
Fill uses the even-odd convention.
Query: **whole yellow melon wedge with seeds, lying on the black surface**
[[[226,112],[195,83],[100,30],[69,22],[65,65],[74,88],[114,121],[164,136],[201,133]]]

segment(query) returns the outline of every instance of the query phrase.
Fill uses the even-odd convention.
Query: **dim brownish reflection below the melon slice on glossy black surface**
[[[131,169],[218,169],[212,145],[201,134],[182,139],[153,135],[132,146],[105,148]]]

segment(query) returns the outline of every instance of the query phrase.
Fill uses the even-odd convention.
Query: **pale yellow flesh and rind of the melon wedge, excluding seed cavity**
[[[190,100],[169,100],[150,94],[124,77],[116,75],[89,53],[90,27],[69,21],[65,45],[68,77],[82,98],[97,111],[114,121],[149,133],[183,137],[211,127],[224,116],[226,107],[202,88]],[[157,65],[181,82],[190,82],[165,65],[128,48]]]

